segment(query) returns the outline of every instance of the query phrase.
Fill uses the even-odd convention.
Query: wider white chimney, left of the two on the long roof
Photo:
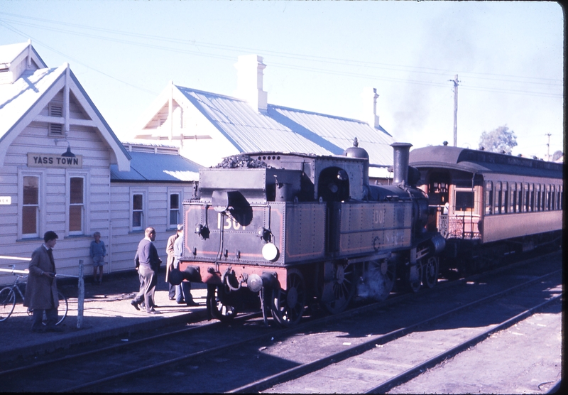
[[[262,90],[263,70],[262,56],[242,55],[235,63],[236,67],[236,97],[244,99],[256,112],[266,112],[268,108],[268,93]]]

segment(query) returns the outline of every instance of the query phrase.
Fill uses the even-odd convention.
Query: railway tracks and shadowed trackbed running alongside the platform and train
[[[444,350],[432,347],[430,352],[416,350],[420,363],[399,360],[395,364],[403,369],[394,369],[391,377],[383,377],[376,385],[361,390],[349,386],[327,391],[384,392],[452,353],[483,340],[489,332],[523,319],[544,303],[553,303],[552,296],[542,296],[543,290],[554,288],[562,279],[558,270],[536,273],[537,269],[546,269],[544,266],[525,266],[525,271],[513,276],[514,284],[506,284],[505,278],[510,279],[510,273],[500,269],[501,274],[474,276],[461,285],[454,282],[416,297],[403,295],[387,303],[373,303],[340,315],[307,320],[288,330],[266,328],[262,320],[255,318],[258,315],[241,316],[231,328],[217,322],[195,325],[0,374],[10,377],[4,391],[250,392],[271,391],[274,386],[274,391],[291,388],[291,392],[297,392],[298,387],[293,383],[302,386],[302,379],[312,379],[311,374],[337,367],[342,361],[368,359],[361,356],[385,350],[396,342],[416,342],[417,334],[429,332],[425,330],[429,326],[442,325],[453,331],[449,336],[452,347],[444,347]],[[486,277],[490,278],[486,281]],[[523,292],[540,294],[539,303],[520,309],[517,301]],[[552,293],[555,292],[562,293],[562,290]],[[513,303],[506,298],[516,299]],[[493,302],[497,299],[501,305],[517,307],[496,313]],[[465,318],[487,316],[484,308],[491,310],[494,317],[486,325],[476,323],[464,330]],[[432,340],[417,342],[435,344]],[[388,365],[385,356],[373,360]],[[69,372],[73,372],[72,377]],[[339,377],[344,377],[344,373]],[[281,384],[284,382],[288,384]]]

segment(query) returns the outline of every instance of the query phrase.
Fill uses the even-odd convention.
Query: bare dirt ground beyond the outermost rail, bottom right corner
[[[562,377],[562,305],[497,332],[389,394],[545,394]]]

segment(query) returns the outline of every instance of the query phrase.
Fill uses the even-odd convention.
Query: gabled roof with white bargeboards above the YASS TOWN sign
[[[28,52],[35,53],[28,42]],[[18,45],[14,46],[16,48]],[[16,53],[16,50],[6,50],[0,46],[0,53]],[[33,51],[32,51],[33,50]],[[8,57],[8,55],[6,55]],[[41,62],[42,65],[43,61]],[[111,160],[119,164],[122,170],[129,168],[130,156],[119,139],[104,120],[97,107],[84,91],[77,77],[67,63],[57,68],[41,68],[39,70],[24,70],[13,83],[0,84],[0,166],[4,156],[14,139],[34,121],[40,112],[49,104],[60,90],[68,87],[70,92],[82,106],[89,121],[70,119],[72,122],[82,122],[99,130],[102,139],[111,148]]]

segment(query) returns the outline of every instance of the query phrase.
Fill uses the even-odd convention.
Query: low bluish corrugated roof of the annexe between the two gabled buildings
[[[180,155],[131,151],[130,171],[111,165],[111,181],[175,182],[199,180],[202,166]]]

